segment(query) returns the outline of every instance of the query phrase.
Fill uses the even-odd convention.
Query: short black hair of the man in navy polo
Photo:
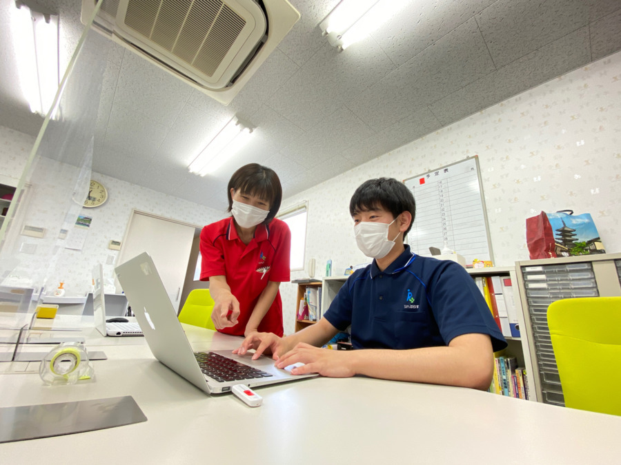
[[[408,234],[414,223],[416,203],[410,189],[404,183],[394,178],[378,178],[365,181],[356,189],[349,202],[349,214],[354,216],[361,211],[368,211],[382,207],[397,218],[404,211],[412,214],[412,223],[404,232]]]

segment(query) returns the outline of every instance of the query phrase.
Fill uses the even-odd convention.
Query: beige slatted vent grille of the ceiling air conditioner
[[[213,76],[246,21],[219,0],[130,0],[125,24]]]

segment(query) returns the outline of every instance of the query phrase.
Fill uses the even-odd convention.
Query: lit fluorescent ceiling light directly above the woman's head
[[[239,152],[253,134],[253,128],[244,125],[236,116],[208,143],[207,147],[190,163],[190,173],[205,176],[215,172],[224,162]]]

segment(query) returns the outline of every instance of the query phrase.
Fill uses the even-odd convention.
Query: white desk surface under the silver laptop
[[[197,350],[213,338],[195,327],[186,333],[202,341]],[[214,349],[236,346],[219,336]],[[618,464],[621,457],[621,417],[370,378],[266,386],[257,389],[264,405],[250,409],[233,395],[199,391],[144,343],[104,350],[109,360],[94,362],[95,382],[44,386],[38,375],[0,375],[0,406],[132,395],[148,421],[0,444],[0,463],[66,464],[60,451],[93,464]]]

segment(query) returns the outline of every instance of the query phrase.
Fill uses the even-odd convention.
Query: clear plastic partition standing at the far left
[[[42,291],[58,286],[48,279],[88,195],[110,48],[110,39],[85,27],[17,185],[0,229],[0,327],[29,322]]]

